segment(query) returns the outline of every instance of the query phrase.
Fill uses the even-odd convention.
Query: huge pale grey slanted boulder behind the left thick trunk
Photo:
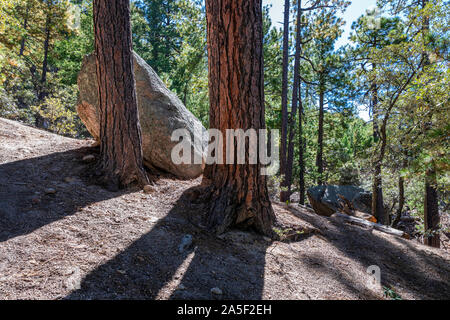
[[[207,146],[206,129],[200,121],[183,105],[178,97],[164,85],[156,72],[134,53],[134,72],[142,128],[142,148],[144,164],[170,172],[180,178],[192,179],[203,173],[203,164],[176,165],[171,159],[172,149],[178,141],[171,136],[176,129],[186,129],[194,141],[194,136],[202,141],[202,146],[191,144],[192,155],[202,156],[202,148]],[[78,75],[79,99],[77,112],[92,136],[99,141],[98,86],[95,54],[83,60]]]

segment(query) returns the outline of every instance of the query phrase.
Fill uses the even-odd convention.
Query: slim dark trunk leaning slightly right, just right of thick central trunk
[[[302,2],[297,1],[297,34],[296,34],[296,44],[295,44],[295,62],[294,62],[294,86],[292,92],[292,110],[289,117],[289,144],[288,144],[288,154],[286,161],[286,174],[285,174],[285,185],[288,188],[285,195],[283,195],[283,202],[290,201],[292,193],[292,171],[294,166],[294,137],[295,137],[295,117],[297,115],[298,99],[301,95],[300,92],[300,54],[301,54],[301,43],[302,43]]]

